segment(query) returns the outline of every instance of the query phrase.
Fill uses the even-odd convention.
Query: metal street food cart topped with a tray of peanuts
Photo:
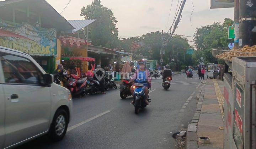
[[[244,46],[233,50],[212,49],[214,57],[225,60],[222,105],[223,148],[256,147],[256,50],[254,48],[255,46]]]

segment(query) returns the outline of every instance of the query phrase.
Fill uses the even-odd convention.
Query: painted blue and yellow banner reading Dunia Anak
[[[36,56],[57,56],[56,30],[28,23],[8,24],[0,19],[0,46]]]

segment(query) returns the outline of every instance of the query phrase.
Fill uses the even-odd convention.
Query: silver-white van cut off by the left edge
[[[68,89],[28,54],[0,46],[0,148],[48,134],[61,140],[72,115]]]

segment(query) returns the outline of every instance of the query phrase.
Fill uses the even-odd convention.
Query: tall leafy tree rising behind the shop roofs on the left
[[[88,27],[93,45],[115,48],[120,44],[116,17],[111,9],[101,5],[100,0],[94,0],[86,8],[82,7],[80,15],[85,19],[96,19],[93,25]]]

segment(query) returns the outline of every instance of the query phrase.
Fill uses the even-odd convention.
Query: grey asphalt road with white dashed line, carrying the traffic
[[[171,88],[165,91],[162,80],[153,79],[151,103],[138,115],[129,104],[131,98],[121,99],[118,89],[73,99],[73,119],[62,141],[40,137],[19,148],[177,148],[172,134],[191,122],[200,81],[196,73],[193,78],[182,73],[173,76]]]

